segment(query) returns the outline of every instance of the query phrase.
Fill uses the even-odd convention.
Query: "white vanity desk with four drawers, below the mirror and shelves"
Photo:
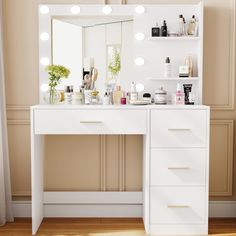
[[[208,107],[33,106],[33,234],[45,215],[43,137],[50,134],[143,135],[143,220],[146,232],[157,235],[208,234]]]

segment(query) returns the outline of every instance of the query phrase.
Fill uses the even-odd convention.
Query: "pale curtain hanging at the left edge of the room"
[[[13,221],[3,69],[3,17],[0,0],[0,225]]]

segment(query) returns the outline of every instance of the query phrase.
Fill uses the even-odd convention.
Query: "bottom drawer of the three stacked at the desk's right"
[[[204,187],[153,187],[150,194],[151,224],[204,223]]]

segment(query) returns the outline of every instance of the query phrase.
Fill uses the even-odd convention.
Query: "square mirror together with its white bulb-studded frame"
[[[97,70],[95,87],[101,94],[106,84],[114,85],[117,80],[126,89],[130,87],[138,33],[134,30],[135,17],[145,13],[144,7],[63,4],[39,5],[38,9],[40,103],[45,103],[45,66],[49,64],[63,65],[71,71],[58,89],[65,85],[78,89],[83,69],[90,66]],[[114,76],[117,71],[118,76]]]

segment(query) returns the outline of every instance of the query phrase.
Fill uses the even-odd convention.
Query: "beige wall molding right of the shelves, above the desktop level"
[[[219,110],[234,110],[235,109],[235,41],[236,41],[236,1],[231,2],[231,16],[230,16],[230,47],[229,47],[229,84],[228,84],[228,104],[208,104],[212,111]]]

